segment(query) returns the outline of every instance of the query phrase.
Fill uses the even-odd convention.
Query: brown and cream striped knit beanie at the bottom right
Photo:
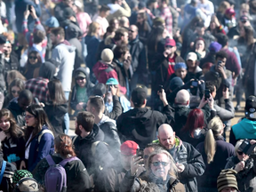
[[[236,173],[237,172],[232,169],[222,170],[220,172],[220,175],[217,179],[217,188],[219,192],[223,188],[236,188],[238,191]]]

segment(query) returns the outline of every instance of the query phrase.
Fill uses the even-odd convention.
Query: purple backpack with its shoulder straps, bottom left
[[[44,184],[46,191],[49,192],[66,192],[67,191],[67,173],[64,166],[71,161],[79,160],[76,156],[64,159],[60,164],[55,164],[52,156],[45,157],[50,167],[44,175]]]

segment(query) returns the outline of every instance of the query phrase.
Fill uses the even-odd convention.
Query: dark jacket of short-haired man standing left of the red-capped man
[[[130,53],[132,55],[132,72],[137,71],[139,74],[147,73],[147,56],[146,48],[140,42],[138,36],[130,41]]]

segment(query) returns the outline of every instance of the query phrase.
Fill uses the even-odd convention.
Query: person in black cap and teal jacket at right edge
[[[256,140],[256,97],[249,96],[245,102],[245,117],[232,126],[229,142],[236,145],[237,140]]]

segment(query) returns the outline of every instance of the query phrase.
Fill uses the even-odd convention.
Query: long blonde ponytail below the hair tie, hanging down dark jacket
[[[212,129],[210,129],[205,136],[204,140],[204,152],[207,156],[207,164],[210,164],[213,161],[213,157],[216,152],[216,142],[213,136]]]

